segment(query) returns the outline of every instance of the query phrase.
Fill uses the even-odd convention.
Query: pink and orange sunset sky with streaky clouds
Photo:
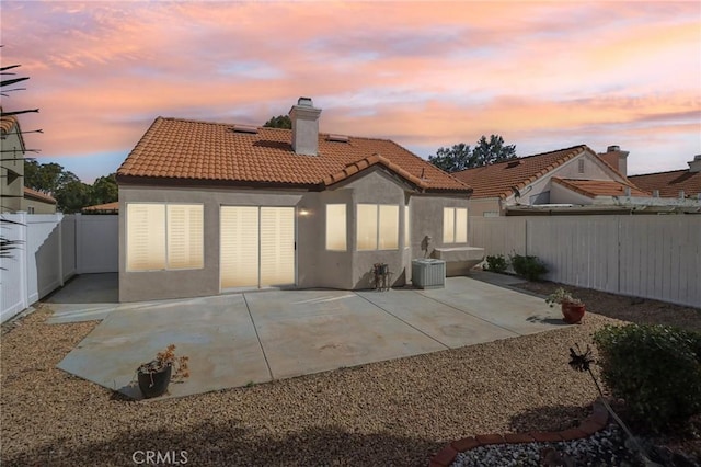
[[[427,158],[499,134],[528,156],[629,150],[629,174],[701,153],[701,1],[8,1],[2,98],[28,149],[84,182],[157,116],[262,125],[304,95],[320,129]]]

